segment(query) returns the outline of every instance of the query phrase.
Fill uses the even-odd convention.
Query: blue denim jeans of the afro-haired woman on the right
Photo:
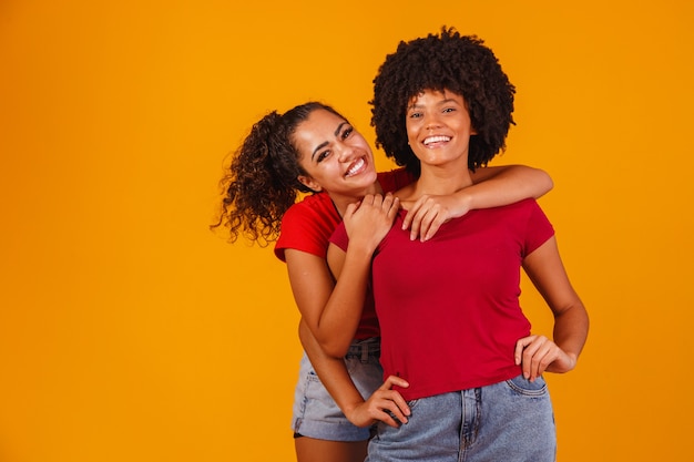
[[[557,435],[543,378],[518,376],[487,387],[409,402],[395,429],[377,424],[367,461],[553,462]]]

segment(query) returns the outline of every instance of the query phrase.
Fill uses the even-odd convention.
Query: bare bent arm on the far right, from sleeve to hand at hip
[[[583,302],[569,281],[559,256],[557,239],[550,238],[523,260],[523,269],[554,315],[553,341],[543,336],[520,339],[516,363],[534,380],[545,370],[568,372],[575,368],[588,337],[589,319]]]

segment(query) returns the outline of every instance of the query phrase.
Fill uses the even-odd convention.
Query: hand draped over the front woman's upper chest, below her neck
[[[410,239],[419,236],[423,243],[429,240],[439,230],[439,227],[451,218],[459,218],[470,212],[469,201],[460,198],[456,193],[449,196],[433,196],[425,194],[407,211],[402,229],[410,229]],[[469,198],[469,197],[468,197]]]

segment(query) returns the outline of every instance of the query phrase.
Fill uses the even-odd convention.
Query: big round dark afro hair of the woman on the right
[[[407,144],[407,105],[425,90],[448,90],[465,99],[477,135],[470,137],[468,166],[487,165],[506,148],[506,136],[514,124],[516,88],[501,70],[493,52],[476,35],[460,35],[453,28],[440,35],[401,41],[374,79],[371,125],[376,146],[415,175],[420,163]]]

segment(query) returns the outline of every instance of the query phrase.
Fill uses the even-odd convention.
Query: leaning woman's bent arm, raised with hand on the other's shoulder
[[[341,358],[361,319],[371,255],[388,233],[399,203],[391,195],[366,196],[345,213],[350,237],[343,274],[334,283],[326,261],[315,255],[285,250],[289,283],[304,322],[328,355]],[[354,245],[353,245],[354,243]]]

